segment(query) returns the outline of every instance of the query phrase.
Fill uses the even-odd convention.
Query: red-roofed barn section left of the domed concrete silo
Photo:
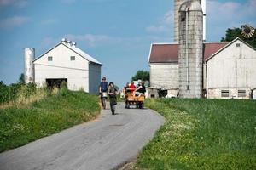
[[[148,56],[150,67],[150,88],[148,97],[158,97],[158,89],[166,89],[167,94],[177,96],[178,93],[178,44],[151,44]]]

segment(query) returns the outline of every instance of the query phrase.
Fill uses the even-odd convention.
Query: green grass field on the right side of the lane
[[[135,169],[256,169],[256,101],[149,99],[166,117]]]

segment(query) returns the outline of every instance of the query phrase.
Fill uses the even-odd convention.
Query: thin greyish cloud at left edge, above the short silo
[[[26,16],[14,16],[4,20],[0,20],[0,28],[9,28],[13,26],[21,26],[30,20]]]

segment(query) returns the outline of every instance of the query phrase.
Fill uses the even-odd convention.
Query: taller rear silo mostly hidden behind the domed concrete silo
[[[174,42],[178,42],[178,11],[181,4],[187,2],[189,0],[174,0]],[[203,40],[206,40],[206,0],[198,0],[201,3],[202,11],[203,11]]]

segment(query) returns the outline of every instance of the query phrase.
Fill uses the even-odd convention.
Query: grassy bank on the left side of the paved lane
[[[0,109],[0,152],[88,122],[100,113],[98,98],[63,88],[25,105]]]

